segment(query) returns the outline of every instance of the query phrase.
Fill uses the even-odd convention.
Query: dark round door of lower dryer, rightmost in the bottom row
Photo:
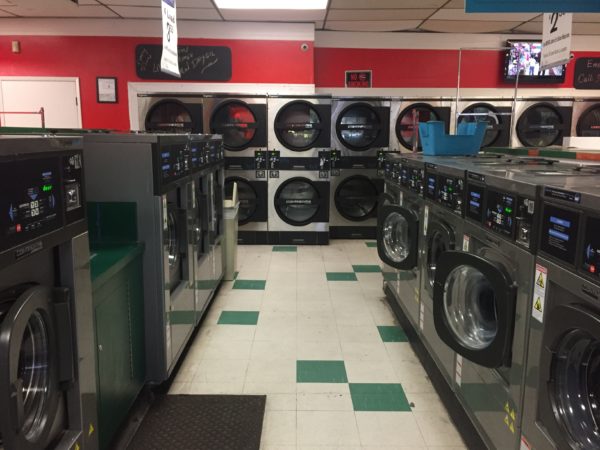
[[[361,221],[372,217],[377,209],[377,187],[362,175],[342,181],[335,192],[335,207],[348,220]]]

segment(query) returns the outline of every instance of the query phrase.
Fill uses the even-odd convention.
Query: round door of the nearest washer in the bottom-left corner
[[[35,285],[0,293],[2,448],[46,448],[64,428],[60,423],[63,399],[59,390],[61,355],[53,306],[55,295],[53,289]],[[64,325],[68,328],[68,323]],[[72,348],[61,348],[62,353],[72,368]]]

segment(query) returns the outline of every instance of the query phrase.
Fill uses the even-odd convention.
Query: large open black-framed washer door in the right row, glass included
[[[503,267],[480,256],[440,256],[433,315],[440,338],[468,360],[489,368],[511,362],[516,290]]]

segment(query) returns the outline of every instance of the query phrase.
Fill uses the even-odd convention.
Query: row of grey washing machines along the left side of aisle
[[[223,172],[218,136],[0,138],[0,448],[98,448],[92,241],[144,243],[146,381],[170,376],[222,278]]]

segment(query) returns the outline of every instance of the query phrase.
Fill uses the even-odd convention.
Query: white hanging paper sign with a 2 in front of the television
[[[573,14],[544,14],[541,70],[567,64],[571,59],[571,30]]]

